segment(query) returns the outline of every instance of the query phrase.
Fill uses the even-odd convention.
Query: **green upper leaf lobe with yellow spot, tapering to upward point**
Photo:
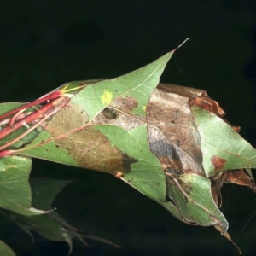
[[[145,116],[149,97],[154,88],[159,84],[160,75],[163,73],[166,63],[172,57],[174,50],[160,57],[160,59],[127,73],[117,79],[103,80],[96,84],[90,84],[73,96],[71,102],[83,106],[89,120],[106,108],[119,96],[123,98],[131,96],[137,100],[137,108],[132,113]]]

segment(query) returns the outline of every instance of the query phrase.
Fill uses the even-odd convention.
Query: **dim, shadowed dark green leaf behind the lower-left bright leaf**
[[[55,196],[70,182],[32,178],[33,206],[49,210]],[[34,231],[51,241],[66,241],[70,252],[73,247],[73,237],[78,237],[80,241],[84,242],[83,238],[77,232],[78,230],[67,224],[67,221],[56,211],[39,216],[24,216],[15,212],[6,211],[5,215],[14,220],[29,236],[32,236],[31,231]]]

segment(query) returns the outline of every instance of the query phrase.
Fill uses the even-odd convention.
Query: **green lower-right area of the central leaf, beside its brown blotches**
[[[136,161],[122,179],[144,195],[158,202],[166,201],[166,177],[160,161],[151,153],[146,125],[125,131],[115,125],[96,125],[113,146]]]

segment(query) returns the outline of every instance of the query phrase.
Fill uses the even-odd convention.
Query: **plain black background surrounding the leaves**
[[[112,78],[178,49],[161,81],[207,90],[256,145],[254,0],[116,0],[0,3],[0,102],[26,101],[72,80]],[[182,70],[182,73],[181,71]],[[84,234],[121,249],[74,241],[75,255],[236,255],[213,228],[180,223],[163,207],[100,172],[34,160],[33,177],[77,181],[56,198],[62,216]],[[256,254],[256,195],[226,186],[222,211],[243,255]],[[252,218],[251,218],[252,217]],[[17,255],[67,255],[67,245],[1,220],[0,238]]]

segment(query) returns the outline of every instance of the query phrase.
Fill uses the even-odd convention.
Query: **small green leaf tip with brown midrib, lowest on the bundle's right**
[[[219,224],[222,232],[228,222],[212,198],[211,181],[195,173],[184,173],[167,179],[166,194],[172,199],[181,216],[190,223],[210,226]]]

